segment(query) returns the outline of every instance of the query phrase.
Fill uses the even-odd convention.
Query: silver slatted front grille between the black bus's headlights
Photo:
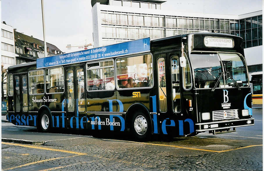
[[[222,119],[237,119],[238,109],[213,111],[213,121]]]

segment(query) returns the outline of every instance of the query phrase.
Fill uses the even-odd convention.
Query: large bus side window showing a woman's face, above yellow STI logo
[[[117,88],[151,87],[152,66],[151,54],[117,59]]]

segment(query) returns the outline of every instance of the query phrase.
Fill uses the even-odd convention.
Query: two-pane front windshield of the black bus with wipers
[[[195,88],[248,86],[245,61],[237,54],[194,52],[190,59],[194,70]],[[225,85],[220,60],[224,65]]]

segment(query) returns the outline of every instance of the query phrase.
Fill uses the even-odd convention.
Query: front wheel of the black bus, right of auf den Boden
[[[151,133],[151,122],[144,112],[135,112],[131,119],[130,132],[132,136],[139,141],[149,138]]]

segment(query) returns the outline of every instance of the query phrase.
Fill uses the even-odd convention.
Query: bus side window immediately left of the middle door
[[[46,69],[45,77],[46,77],[46,93],[64,92],[63,67]]]

